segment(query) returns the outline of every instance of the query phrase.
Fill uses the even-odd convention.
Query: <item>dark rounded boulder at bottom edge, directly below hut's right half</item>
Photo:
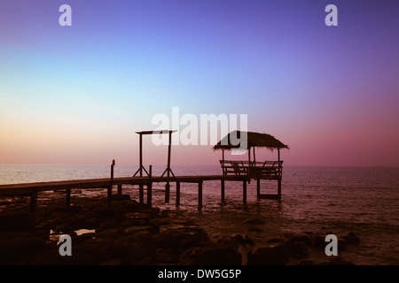
[[[288,264],[288,250],[282,243],[271,243],[266,247],[256,247],[247,255],[247,265]]]

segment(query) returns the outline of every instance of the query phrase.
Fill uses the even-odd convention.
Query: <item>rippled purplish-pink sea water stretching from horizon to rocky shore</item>
[[[137,166],[116,165],[115,177],[128,177]],[[154,166],[159,175],[164,167]],[[219,174],[218,166],[173,166],[175,175]],[[109,165],[11,165],[0,164],[0,184],[51,180],[108,178]],[[225,202],[220,200],[220,181],[205,181],[203,210],[197,210],[197,185],[182,184],[181,206],[175,208],[175,184],[170,203],[164,203],[164,184],[155,185],[153,204],[191,216],[217,239],[246,233],[262,243],[286,232],[353,231],[359,245],[349,246],[344,258],[355,264],[399,264],[399,168],[296,167],[283,172],[282,200],[256,200],[256,183],[247,187],[242,203],[241,182],[226,182]],[[262,193],[276,193],[277,182],[263,180]],[[138,198],[138,187],[124,187],[124,194]],[[82,195],[106,195],[105,190],[83,190]],[[73,195],[78,197],[79,195]],[[62,197],[51,193],[40,199]],[[0,199],[0,213],[11,198]]]

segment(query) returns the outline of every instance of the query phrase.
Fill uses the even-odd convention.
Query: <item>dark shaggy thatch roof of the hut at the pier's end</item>
[[[267,148],[273,149],[289,149],[289,147],[283,142],[278,141],[274,136],[270,134],[260,134],[254,132],[243,132],[243,131],[233,131],[227,134],[220,142],[214,146],[216,149],[239,149],[239,144],[237,142],[231,142],[240,140],[241,134],[246,133],[247,146],[246,149],[251,149],[253,147],[257,148]],[[237,144],[237,145],[235,145]]]

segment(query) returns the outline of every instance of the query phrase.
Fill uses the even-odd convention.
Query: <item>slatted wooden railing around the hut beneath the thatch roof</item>
[[[248,175],[252,178],[281,177],[283,161],[248,162],[237,160],[220,160],[223,175]]]

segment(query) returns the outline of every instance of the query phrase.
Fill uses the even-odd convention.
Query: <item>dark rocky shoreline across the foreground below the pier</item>
[[[79,197],[69,207],[60,200],[47,201],[37,209],[34,231],[24,223],[26,211],[24,206],[0,216],[0,264],[352,264],[340,256],[320,256],[327,233],[286,233],[262,246],[241,234],[211,241],[187,216],[169,216],[129,195],[114,196],[112,210],[106,210],[100,196]],[[61,234],[71,236],[72,256],[59,255]],[[337,237],[340,249],[359,242],[351,232]]]

